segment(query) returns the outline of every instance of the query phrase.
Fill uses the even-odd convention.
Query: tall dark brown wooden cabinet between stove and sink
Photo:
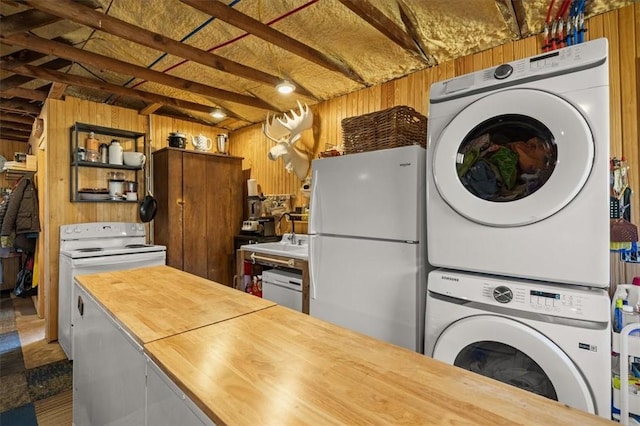
[[[163,148],[153,154],[154,242],[167,265],[231,285],[242,225],[242,158]]]

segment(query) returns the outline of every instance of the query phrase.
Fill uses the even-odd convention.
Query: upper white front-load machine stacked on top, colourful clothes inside
[[[597,39],[431,86],[429,263],[608,287],[607,49]]]

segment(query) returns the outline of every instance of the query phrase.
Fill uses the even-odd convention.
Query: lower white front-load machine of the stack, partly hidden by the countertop
[[[426,355],[610,418],[605,290],[441,269],[426,309]]]

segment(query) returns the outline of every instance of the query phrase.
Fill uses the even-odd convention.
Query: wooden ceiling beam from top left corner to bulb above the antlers
[[[280,78],[263,71],[250,68],[237,62],[215,55],[211,52],[198,49],[177,40],[173,40],[154,33],[142,27],[130,24],[120,19],[105,15],[95,10],[79,5],[71,0],[23,0],[34,9],[50,13],[61,18],[68,19],[78,24],[86,25],[98,31],[115,35],[143,46],[166,52],[180,58],[188,59],[199,64],[215,68],[219,71],[233,74],[248,80],[274,86],[280,82]],[[313,97],[304,88],[300,87],[298,93]]]

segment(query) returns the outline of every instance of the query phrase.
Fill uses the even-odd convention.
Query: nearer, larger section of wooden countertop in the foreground
[[[281,306],[144,348],[217,424],[610,424]]]

